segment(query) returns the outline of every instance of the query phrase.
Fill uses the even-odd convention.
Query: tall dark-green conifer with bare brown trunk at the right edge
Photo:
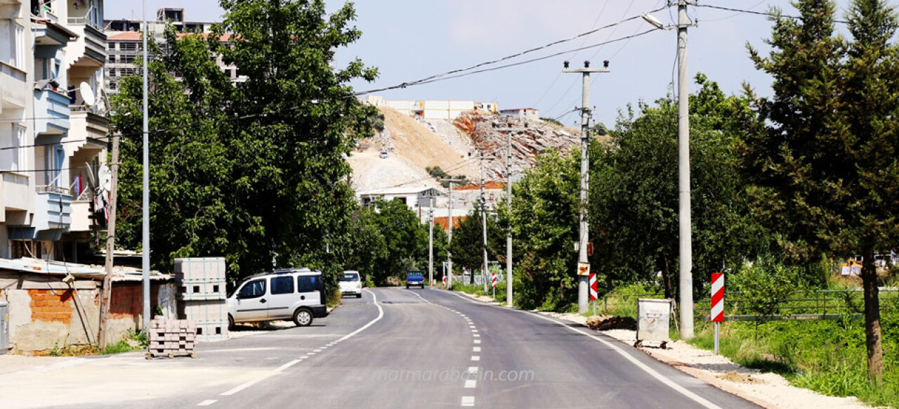
[[[897,28],[880,0],[850,6],[851,40],[833,32],[829,0],[796,3],[801,18],[775,17],[770,56],[750,47],[774,95],[755,103],[764,127],[747,127],[744,158],[760,218],[776,225],[797,258],[861,253],[868,371],[883,374],[874,252],[895,239],[899,212]]]

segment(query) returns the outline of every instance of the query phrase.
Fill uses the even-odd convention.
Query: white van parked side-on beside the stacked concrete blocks
[[[247,277],[227,295],[228,326],[235,323],[293,320],[312,324],[328,315],[322,271],[275,270]]]

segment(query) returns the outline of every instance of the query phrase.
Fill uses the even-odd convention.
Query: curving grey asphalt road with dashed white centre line
[[[198,354],[113,357],[105,372],[102,362],[60,369],[67,378],[86,371],[75,375],[83,383],[109,379],[107,394],[36,406],[756,407],[582,326],[436,289],[366,290],[312,326],[203,343]],[[60,387],[60,378],[22,382],[57,379],[60,394],[77,387]]]

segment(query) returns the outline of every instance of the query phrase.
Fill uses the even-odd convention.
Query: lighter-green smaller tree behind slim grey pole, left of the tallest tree
[[[150,160],[150,248],[154,267],[169,270],[174,257],[227,255],[237,262],[228,237],[227,180],[233,159],[218,123],[223,120],[218,102],[230,86],[209,58],[208,44],[197,37],[176,40],[163,54],[150,42],[148,66]],[[173,73],[181,73],[182,80]],[[119,210],[116,245],[141,247],[142,150],[140,110],[142,79],[120,79],[113,95],[111,120],[122,132],[119,178]],[[229,214],[230,213],[230,214]]]

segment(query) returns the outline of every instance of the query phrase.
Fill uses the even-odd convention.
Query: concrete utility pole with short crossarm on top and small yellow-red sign
[[[578,276],[577,276],[577,312],[583,314],[587,312],[587,304],[590,291],[590,275],[584,275],[581,272],[581,266],[590,265],[587,260],[587,243],[589,243],[589,234],[587,232],[587,189],[590,177],[590,158],[587,147],[590,146],[590,118],[592,111],[590,109],[590,75],[592,73],[608,73],[609,61],[603,61],[602,68],[591,68],[590,61],[583,62],[583,68],[568,69],[568,61],[565,61],[564,73],[580,73],[583,76],[583,93],[581,102],[581,203],[580,213],[578,214],[578,224],[580,225],[580,240],[578,241]]]

